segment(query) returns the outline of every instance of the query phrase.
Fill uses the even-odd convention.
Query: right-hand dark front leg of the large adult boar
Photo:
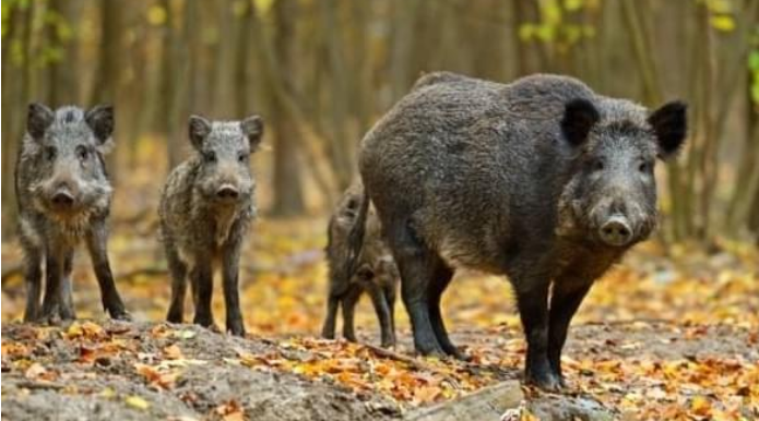
[[[550,297],[550,325],[548,327],[548,361],[554,374],[565,386],[561,374],[561,349],[567,340],[569,322],[577,312],[592,282],[557,280]]]

